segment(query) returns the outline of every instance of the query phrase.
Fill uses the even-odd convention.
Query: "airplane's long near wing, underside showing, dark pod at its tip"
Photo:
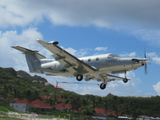
[[[82,62],[75,56],[71,55],[64,49],[57,46],[58,42],[45,42],[42,40],[37,40],[41,45],[53,53],[53,57],[61,63],[70,73],[73,75],[93,73],[96,71],[93,67]]]

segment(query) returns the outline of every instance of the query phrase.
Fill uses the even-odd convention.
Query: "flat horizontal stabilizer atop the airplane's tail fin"
[[[41,55],[38,53],[38,51],[33,51],[33,50],[30,50],[30,49],[27,49],[27,48],[24,48],[24,47],[21,47],[21,46],[12,46],[12,48],[15,48],[25,54],[37,54],[37,56],[40,58],[40,59],[43,59],[43,58],[46,58],[45,56]]]

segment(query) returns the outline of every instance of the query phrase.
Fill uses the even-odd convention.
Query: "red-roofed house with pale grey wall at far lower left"
[[[19,112],[32,112],[35,109],[39,109],[40,111],[44,112],[52,109],[51,105],[49,105],[48,103],[44,103],[38,99],[32,102],[29,102],[26,99],[18,99],[15,103],[10,103],[10,106]]]

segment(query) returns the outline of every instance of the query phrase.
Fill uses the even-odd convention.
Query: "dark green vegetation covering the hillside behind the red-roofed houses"
[[[37,80],[37,82],[34,82]],[[72,104],[72,109],[82,114],[93,115],[95,108],[114,111],[114,115],[160,117],[160,97],[119,97],[109,94],[105,97],[79,95],[74,92],[56,89],[53,85],[45,86],[45,78],[30,76],[24,71],[16,72],[13,68],[0,68],[0,96],[4,98],[20,98],[33,101],[39,96],[50,96],[45,99],[52,106],[61,103],[55,98],[64,98],[63,104]],[[56,97],[55,97],[56,93]],[[0,102],[0,106],[3,103]]]

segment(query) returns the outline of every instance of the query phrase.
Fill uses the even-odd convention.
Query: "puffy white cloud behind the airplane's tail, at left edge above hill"
[[[36,28],[25,29],[22,33],[17,33],[16,31],[0,32],[0,66],[28,70],[25,56],[20,51],[11,48],[11,46],[18,45],[33,50],[41,48],[43,51],[43,47],[36,42],[37,38],[42,39],[43,37]],[[44,49],[44,51],[46,50]],[[44,55],[47,55],[47,52],[44,51]]]

